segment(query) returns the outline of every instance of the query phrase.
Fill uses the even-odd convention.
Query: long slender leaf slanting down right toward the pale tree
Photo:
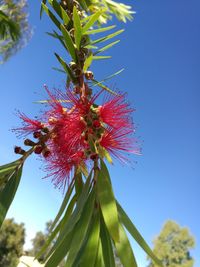
[[[155,261],[156,264],[162,266],[161,261],[154,255],[151,248],[148,246],[144,238],[141,236],[135,225],[131,222],[128,215],[125,213],[123,208],[120,206],[120,204],[117,202],[117,208],[119,211],[119,216],[126,227],[126,229],[129,231],[129,233],[132,235],[132,237],[135,239],[135,241],[142,247],[142,249],[149,255],[149,257]]]

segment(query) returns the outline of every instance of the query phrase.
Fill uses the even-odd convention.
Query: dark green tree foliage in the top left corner
[[[26,0],[0,0],[0,63],[20,50],[30,39]]]

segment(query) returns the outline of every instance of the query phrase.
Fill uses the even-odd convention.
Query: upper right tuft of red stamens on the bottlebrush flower
[[[100,106],[98,110],[102,121],[110,127],[116,129],[119,127],[132,128],[130,115],[133,109],[125,101],[124,95],[112,95],[110,100]]]

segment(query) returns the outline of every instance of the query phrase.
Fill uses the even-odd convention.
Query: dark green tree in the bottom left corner
[[[0,230],[0,267],[17,266],[24,242],[24,224],[17,224],[13,219],[5,220]]]

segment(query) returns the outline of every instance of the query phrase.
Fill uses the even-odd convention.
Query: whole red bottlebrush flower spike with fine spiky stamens
[[[47,176],[53,177],[56,186],[65,184],[77,168],[108,153],[121,161],[124,152],[139,154],[132,136],[133,109],[124,95],[113,95],[99,106],[95,103],[98,95],[83,99],[69,89],[65,94],[59,90],[53,94],[45,88],[50,99],[43,122],[20,114],[24,126],[17,131],[38,138],[35,153],[43,155]]]

